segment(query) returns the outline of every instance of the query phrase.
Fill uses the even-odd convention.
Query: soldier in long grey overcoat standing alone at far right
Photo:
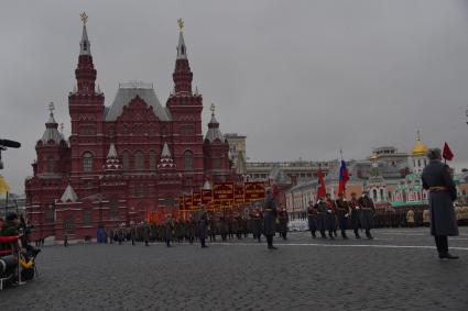
[[[440,259],[458,259],[458,256],[448,253],[447,238],[449,235],[458,235],[454,211],[457,189],[450,176],[450,168],[442,163],[440,149],[429,149],[427,157],[429,164],[424,168],[422,179],[424,189],[429,191],[431,234],[434,235]]]

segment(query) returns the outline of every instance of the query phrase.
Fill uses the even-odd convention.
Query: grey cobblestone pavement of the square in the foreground
[[[46,246],[40,277],[0,292],[0,310],[468,310],[468,227],[436,256],[427,229],[376,240],[251,237],[228,243]]]

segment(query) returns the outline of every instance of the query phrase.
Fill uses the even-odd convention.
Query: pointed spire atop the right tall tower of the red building
[[[177,20],[178,23],[178,44],[177,44],[177,58],[175,60],[175,70],[172,75],[174,80],[175,95],[192,95],[192,79],[193,74],[188,65],[187,47],[184,41],[184,21]]]

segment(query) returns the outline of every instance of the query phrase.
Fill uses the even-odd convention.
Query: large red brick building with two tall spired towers
[[[85,20],[86,22],[86,20]],[[151,84],[120,84],[110,107],[96,87],[86,23],[68,95],[72,135],[58,131],[53,104],[26,179],[26,210],[33,238],[96,237],[97,229],[142,221],[148,211],[177,209],[181,192],[205,180],[229,181],[229,145],[211,121],[204,138],[203,98],[192,90],[193,73],[181,29],[174,91],[162,107]]]

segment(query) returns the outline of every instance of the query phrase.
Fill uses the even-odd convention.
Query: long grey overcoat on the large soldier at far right
[[[431,160],[423,170],[423,187],[429,190],[431,234],[458,235],[454,201],[457,189],[450,176],[449,167],[440,160]],[[431,190],[444,187],[444,190]]]

